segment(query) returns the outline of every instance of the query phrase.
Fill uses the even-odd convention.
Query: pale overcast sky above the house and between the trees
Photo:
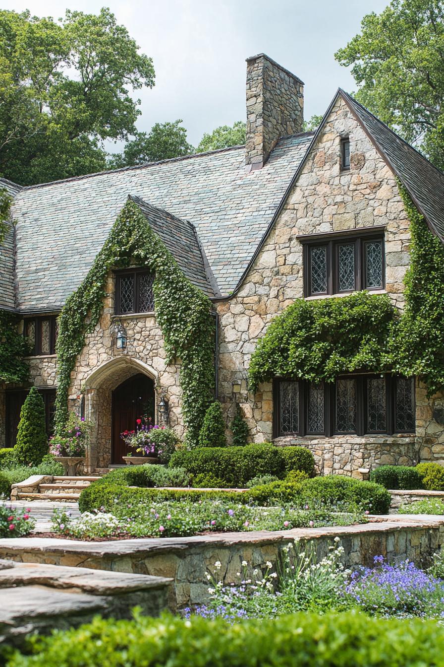
[[[337,87],[354,82],[333,57],[359,32],[361,18],[389,0],[3,0],[2,9],[37,16],[109,6],[150,55],[156,85],[137,91],[138,129],[184,120],[188,140],[244,120],[246,57],[266,53],[305,83],[305,117],[326,111]],[[112,149],[110,146],[109,149]],[[115,150],[115,149],[114,149]]]

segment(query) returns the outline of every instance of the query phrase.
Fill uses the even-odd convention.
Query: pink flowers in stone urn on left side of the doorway
[[[67,426],[61,435],[49,440],[49,453],[59,461],[68,476],[76,476],[85,461],[87,450],[89,422],[74,412],[69,414]]]

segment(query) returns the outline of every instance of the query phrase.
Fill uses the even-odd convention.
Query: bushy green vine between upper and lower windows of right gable
[[[333,382],[339,373],[390,369],[387,342],[397,309],[385,294],[360,291],[331,299],[296,299],[270,323],[250,363],[250,387],[276,376]]]

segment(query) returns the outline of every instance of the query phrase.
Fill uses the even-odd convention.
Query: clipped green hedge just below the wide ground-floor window
[[[199,447],[177,450],[169,466],[184,468],[193,476],[214,476],[224,486],[244,487],[252,478],[274,475],[284,478],[290,470],[314,476],[313,454],[305,447],[253,444],[245,447]]]

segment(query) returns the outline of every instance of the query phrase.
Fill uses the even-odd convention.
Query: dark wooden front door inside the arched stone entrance
[[[112,442],[111,463],[124,464],[122,456],[128,454],[128,446],[120,439],[123,431],[136,428],[136,419],[146,415],[154,424],[154,382],[142,373],[119,384],[112,392]]]

